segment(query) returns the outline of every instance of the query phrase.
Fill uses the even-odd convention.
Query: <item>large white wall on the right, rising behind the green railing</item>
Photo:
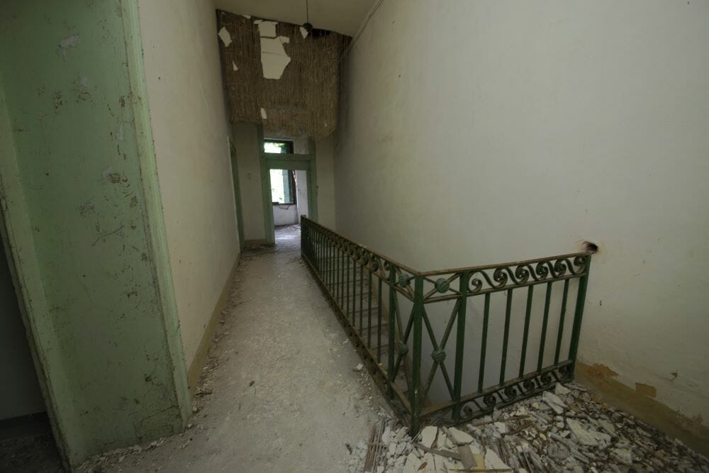
[[[708,18],[384,0],[349,58],[338,230],[417,269],[598,243],[580,359],[709,425]]]

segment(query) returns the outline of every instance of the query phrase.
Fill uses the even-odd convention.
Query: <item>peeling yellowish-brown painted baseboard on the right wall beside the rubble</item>
[[[671,438],[681,440],[696,452],[709,456],[709,428],[702,425],[700,419],[683,416],[652,397],[625,386],[615,379],[612,370],[603,365],[591,366],[577,361],[574,376],[576,381],[608,404],[631,413]]]

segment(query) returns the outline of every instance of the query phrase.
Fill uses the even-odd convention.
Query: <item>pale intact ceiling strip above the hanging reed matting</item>
[[[375,0],[308,0],[315,28],[352,36]],[[306,0],[216,0],[217,9],[285,23],[306,23]]]

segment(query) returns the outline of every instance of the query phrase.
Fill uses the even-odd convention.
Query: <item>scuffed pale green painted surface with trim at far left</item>
[[[67,459],[189,414],[133,0],[3,2],[0,176]]]

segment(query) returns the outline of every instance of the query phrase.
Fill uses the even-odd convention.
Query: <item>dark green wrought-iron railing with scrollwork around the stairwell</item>
[[[588,253],[418,272],[305,217],[301,253],[414,432],[424,419],[462,423],[574,375]]]

